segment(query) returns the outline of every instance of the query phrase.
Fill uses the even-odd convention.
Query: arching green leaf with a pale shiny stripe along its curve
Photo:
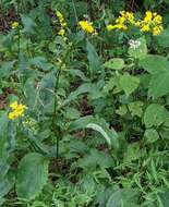
[[[79,120],[72,122],[69,126],[69,131],[76,131],[82,129],[92,129],[99,132],[108,143],[109,147],[111,145],[114,148],[119,147],[118,134],[113,129],[109,129],[108,124],[102,119],[96,119],[92,115],[80,118]]]

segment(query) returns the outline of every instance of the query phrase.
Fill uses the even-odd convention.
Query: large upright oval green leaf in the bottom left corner
[[[48,161],[37,153],[27,154],[19,165],[17,196],[34,199],[43,190],[48,179]]]

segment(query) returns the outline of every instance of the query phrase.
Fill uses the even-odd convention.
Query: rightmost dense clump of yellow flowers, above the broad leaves
[[[159,35],[164,29],[162,17],[156,12],[147,11],[140,26],[142,32],[152,32],[153,35]]]

